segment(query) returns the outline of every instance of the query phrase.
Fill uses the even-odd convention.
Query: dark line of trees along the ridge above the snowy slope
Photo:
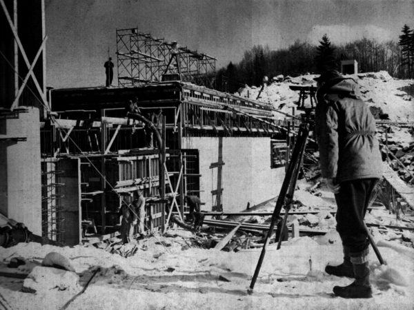
[[[259,86],[263,77],[283,74],[297,76],[319,74],[326,68],[340,69],[340,61],[355,59],[359,72],[386,70],[399,79],[414,78],[414,29],[404,25],[400,41],[379,43],[375,39],[359,39],[344,45],[334,45],[324,35],[319,45],[296,41],[288,48],[270,50],[268,46],[255,45],[244,52],[239,63],[230,62],[217,72],[218,90],[236,92],[244,85]]]

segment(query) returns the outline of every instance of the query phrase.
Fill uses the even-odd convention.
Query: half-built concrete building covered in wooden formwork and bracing
[[[195,195],[206,211],[240,211],[247,203],[277,196],[282,185],[286,123],[276,123],[270,107],[259,101],[178,81],[51,90],[50,98],[52,110],[69,119],[44,123],[42,154],[58,161],[81,159],[78,174],[85,186],[80,196],[73,195],[72,207],[80,202],[76,213],[81,220],[94,219],[102,234],[117,229],[114,216],[126,199],[117,195],[138,187],[152,201],[147,204],[148,227],[158,229],[169,218],[161,203],[163,190],[174,198],[167,210],[184,212],[184,196]],[[165,174],[158,157],[164,151],[150,126],[125,118],[130,101],[161,132]],[[103,176],[106,182],[99,183]],[[66,209],[68,199],[61,202]]]

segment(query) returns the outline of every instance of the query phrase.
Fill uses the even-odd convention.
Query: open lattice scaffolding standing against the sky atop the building
[[[117,67],[120,86],[164,81],[164,74],[196,85],[215,87],[216,59],[176,41],[155,38],[138,28],[117,30]]]

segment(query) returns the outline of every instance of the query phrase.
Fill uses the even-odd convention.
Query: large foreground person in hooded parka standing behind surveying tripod
[[[368,267],[368,231],[364,216],[382,160],[375,120],[357,96],[357,83],[336,70],[327,70],[317,80],[315,134],[322,176],[337,203],[337,231],[344,248],[344,262],[326,266],[335,276],[355,278],[333,292],[344,298],[371,298]]]

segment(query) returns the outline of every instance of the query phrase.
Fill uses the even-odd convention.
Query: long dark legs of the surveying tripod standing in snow
[[[284,227],[286,226],[286,220],[288,218],[290,205],[292,205],[293,194],[295,192],[295,187],[296,187],[296,182],[297,182],[297,176],[299,176],[299,171],[302,166],[302,160],[304,158],[304,152],[305,152],[305,147],[306,147],[306,139],[308,138],[308,135],[309,135],[309,124],[308,122],[304,121],[304,123],[302,123],[299,127],[299,133],[297,135],[295,147],[293,148],[292,156],[290,158],[288,169],[286,171],[286,175],[283,180],[282,188],[280,189],[279,197],[277,197],[277,202],[276,202],[275,210],[273,211],[272,220],[270,222],[268,234],[266,235],[266,238],[264,239],[262,253],[260,254],[259,261],[257,262],[255,273],[253,275],[252,281],[250,282],[250,287],[248,288],[249,294],[253,293],[253,288],[255,287],[255,283],[256,283],[257,277],[259,276],[260,268],[262,267],[264,256],[266,254],[266,247],[270,241],[270,237],[273,234],[273,229],[275,228],[276,221],[279,219],[280,211],[282,211],[282,207],[284,207],[285,214],[282,220],[282,229],[281,229],[281,234],[279,234],[279,240],[277,242],[277,249],[280,249],[280,246],[282,245],[282,238],[283,238],[282,231]],[[378,248],[375,245],[373,238],[371,238],[371,235],[369,234],[369,232],[368,232],[368,239],[375,251],[375,254],[377,255],[378,260],[380,260],[380,264],[384,265],[385,262],[382,259],[380,251],[378,251]]]

